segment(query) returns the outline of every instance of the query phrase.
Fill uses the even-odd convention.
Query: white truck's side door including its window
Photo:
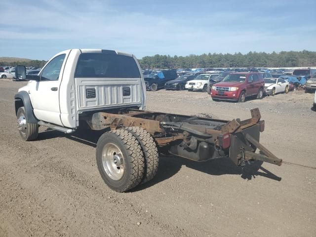
[[[62,125],[59,107],[59,86],[62,80],[66,53],[55,56],[40,73],[40,81],[34,81],[29,90],[36,118]]]

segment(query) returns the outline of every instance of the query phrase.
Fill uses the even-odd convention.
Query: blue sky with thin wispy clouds
[[[0,56],[316,51],[316,0],[1,0]]]

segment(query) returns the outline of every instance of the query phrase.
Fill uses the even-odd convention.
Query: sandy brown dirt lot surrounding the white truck
[[[119,194],[95,164],[100,134],[40,128],[37,141],[21,141],[13,96],[23,84],[0,80],[0,237],[316,236],[313,94],[236,104],[201,92],[148,92],[153,111],[245,119],[259,107],[266,121],[261,142],[284,163],[241,170],[229,159],[160,157],[152,182]]]

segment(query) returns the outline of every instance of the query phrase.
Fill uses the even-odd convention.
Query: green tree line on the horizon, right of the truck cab
[[[146,56],[139,60],[142,68],[241,68],[241,67],[313,67],[314,51],[249,52],[247,54],[204,53],[189,56]]]

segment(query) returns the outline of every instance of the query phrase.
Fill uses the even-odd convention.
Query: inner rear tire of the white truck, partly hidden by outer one
[[[142,184],[152,180],[158,171],[159,156],[158,149],[153,137],[141,127],[126,127],[125,130],[133,134],[142,147],[145,158],[145,173]]]

